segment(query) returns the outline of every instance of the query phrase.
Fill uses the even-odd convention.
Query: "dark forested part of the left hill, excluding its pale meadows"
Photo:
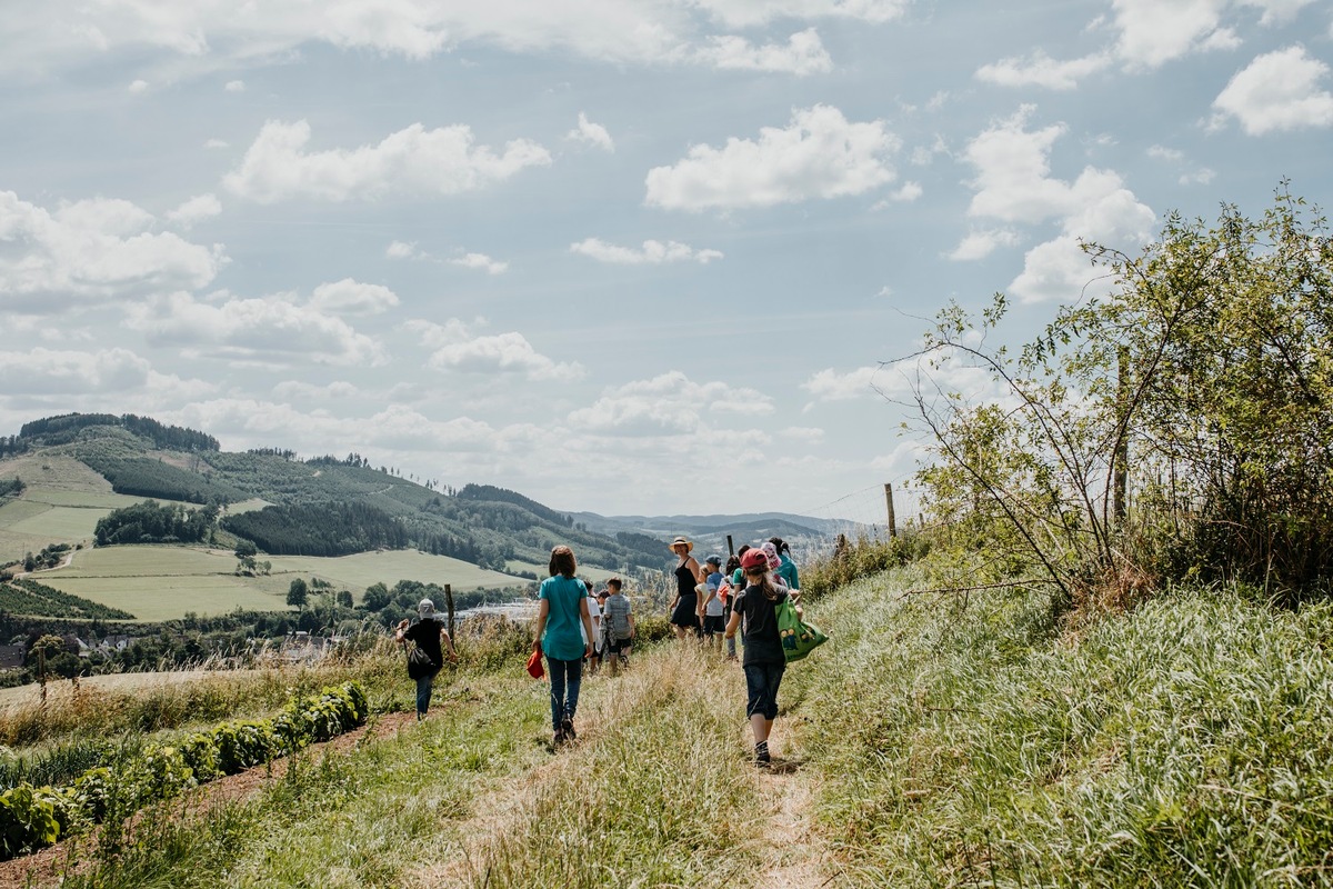
[[[373,468],[356,453],[301,460],[279,448],[224,452],[207,433],[133,415],[35,420],[0,440],[0,456],[75,457],[116,493],[201,506],[172,516],[161,512],[165,505],[143,514],[121,512],[103,526],[97,545],[207,541],[220,530],[229,536],[225,545],[231,537],[248,540],[269,554],[419,549],[501,572],[515,561],[533,569],[544,565],[551,546],[560,542],[576,546],[581,562],[608,570],[660,569],[666,561],[665,541],[596,533],[513,490],[469,484],[445,492],[435,482]],[[17,492],[24,481],[4,484]],[[253,500],[269,505],[240,513],[227,509]],[[205,516],[220,521],[204,529]],[[533,569],[523,573],[535,576]]]

